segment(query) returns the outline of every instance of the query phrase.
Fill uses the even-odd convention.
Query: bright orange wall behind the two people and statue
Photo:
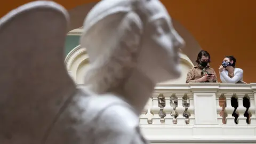
[[[4,1],[0,5],[0,16],[30,1]],[[66,9],[95,1],[97,0],[55,0]],[[225,55],[234,55],[237,58],[237,67],[244,70],[244,81],[256,82],[254,75],[256,1],[163,0],[162,2],[171,16],[193,34],[202,49],[210,52],[211,66],[216,72]]]

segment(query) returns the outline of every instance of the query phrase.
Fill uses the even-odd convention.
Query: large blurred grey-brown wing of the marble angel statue
[[[63,58],[68,20],[50,1],[0,20],[0,143],[40,143],[76,92]]]

